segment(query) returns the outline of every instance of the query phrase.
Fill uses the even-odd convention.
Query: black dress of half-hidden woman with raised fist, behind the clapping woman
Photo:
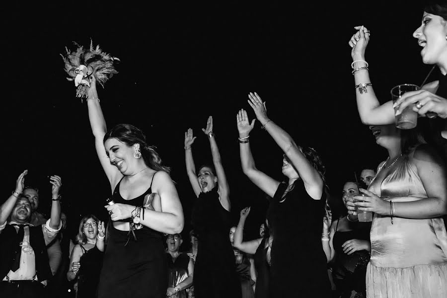
[[[268,238],[267,238],[268,239]],[[255,298],[269,297],[269,280],[270,280],[270,266],[267,263],[267,249],[265,248],[266,238],[263,238],[254,254],[255,268],[256,268],[256,288]]]

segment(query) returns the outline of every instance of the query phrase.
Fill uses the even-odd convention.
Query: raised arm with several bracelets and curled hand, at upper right
[[[354,27],[358,30],[349,40],[355,86],[371,83],[367,64],[365,62],[365,50],[370,41],[370,34],[364,26]],[[357,62],[356,62],[357,61]],[[373,86],[359,86],[355,90],[357,108],[362,123],[367,125],[385,125],[394,122],[394,109],[392,101],[382,105],[375,96]]]

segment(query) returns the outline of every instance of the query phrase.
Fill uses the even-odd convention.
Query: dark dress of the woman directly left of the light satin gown
[[[343,243],[351,239],[370,241],[371,223],[355,223],[352,231],[338,231],[338,220],[332,244],[335,250],[335,260],[332,264],[332,276],[337,291],[342,297],[350,297],[352,291],[366,297],[366,271],[370,261],[370,253],[366,250],[356,251],[350,255],[343,251]],[[363,296],[361,296],[363,295]]]

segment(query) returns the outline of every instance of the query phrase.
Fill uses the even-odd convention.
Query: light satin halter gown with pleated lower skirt
[[[374,178],[368,189],[388,202],[427,198],[421,178],[406,155],[381,184]],[[367,297],[446,298],[447,232],[443,219],[394,217],[393,222],[389,216],[374,214]]]

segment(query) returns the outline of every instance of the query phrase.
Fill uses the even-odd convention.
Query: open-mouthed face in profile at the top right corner
[[[425,64],[439,64],[447,59],[447,22],[435,14],[424,12],[422,24],[413,33],[423,47],[422,61]]]

